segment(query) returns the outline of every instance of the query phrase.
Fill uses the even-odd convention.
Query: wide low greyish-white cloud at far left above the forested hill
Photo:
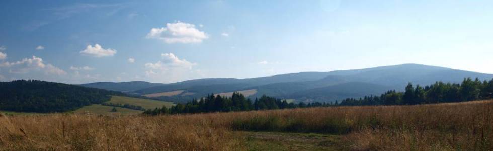
[[[45,74],[65,75],[64,70],[55,67],[51,64],[45,64],[43,59],[33,56],[32,58],[24,58],[17,62],[4,62],[0,64],[0,67],[9,69],[10,73],[23,74],[31,71],[42,71]]]

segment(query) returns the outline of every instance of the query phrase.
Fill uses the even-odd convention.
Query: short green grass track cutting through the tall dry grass
[[[345,150],[341,136],[314,133],[238,132],[248,150]]]

